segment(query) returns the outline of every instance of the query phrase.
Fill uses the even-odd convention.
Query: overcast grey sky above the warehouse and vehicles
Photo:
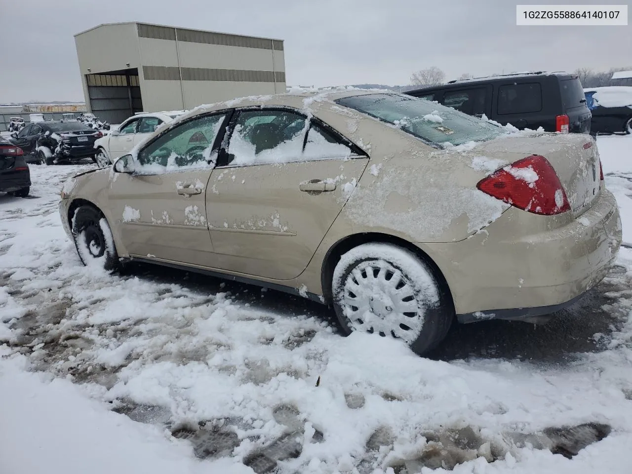
[[[517,27],[507,0],[0,0],[0,12],[0,102],[83,101],[73,35],[116,21],[283,39],[288,85],[632,65],[632,26]]]

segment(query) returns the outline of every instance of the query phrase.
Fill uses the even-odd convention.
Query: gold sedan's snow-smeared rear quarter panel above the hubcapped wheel
[[[332,113],[333,112],[333,113]],[[411,242],[466,238],[497,219],[507,205],[479,191],[485,176],[471,166],[476,153],[439,150],[377,119],[344,107],[317,113],[370,157],[331,231],[388,233]],[[344,222],[344,224],[342,223]]]

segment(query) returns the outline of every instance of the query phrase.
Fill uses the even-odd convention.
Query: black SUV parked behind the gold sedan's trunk
[[[520,129],[590,133],[590,109],[573,74],[537,72],[455,80],[406,94],[477,117],[485,114]]]

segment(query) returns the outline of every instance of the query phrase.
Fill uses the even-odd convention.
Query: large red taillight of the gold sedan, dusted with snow
[[[531,155],[478,181],[477,188],[533,214],[554,216],[571,209],[566,192],[549,161]]]

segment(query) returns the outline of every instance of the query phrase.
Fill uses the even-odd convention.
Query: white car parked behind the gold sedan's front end
[[[110,166],[117,158],[128,154],[137,143],[154,133],[162,123],[169,123],[183,113],[185,112],[154,112],[131,116],[119,125],[118,130],[112,130],[94,142],[97,149],[95,161],[100,167]]]

